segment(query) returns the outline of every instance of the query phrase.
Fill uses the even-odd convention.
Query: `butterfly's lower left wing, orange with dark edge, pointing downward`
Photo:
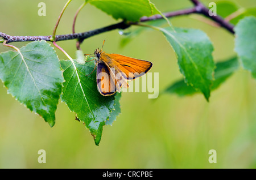
[[[97,63],[97,86],[98,91],[103,96],[114,95],[115,92],[120,92],[122,87],[122,84],[115,79],[109,66],[103,61]]]

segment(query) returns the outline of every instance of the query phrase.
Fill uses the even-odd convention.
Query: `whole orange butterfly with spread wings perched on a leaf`
[[[146,74],[153,65],[149,61],[130,58],[120,54],[108,54],[103,52],[102,48],[101,50],[98,48],[94,51],[96,58],[91,61],[96,60],[94,70],[97,66],[97,86],[98,91],[103,96],[111,96],[117,91],[120,92],[122,86],[129,87],[127,80],[134,80]]]

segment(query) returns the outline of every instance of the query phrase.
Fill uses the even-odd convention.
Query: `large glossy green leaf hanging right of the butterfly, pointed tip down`
[[[185,82],[201,91],[207,101],[213,83],[213,45],[208,36],[197,29],[159,28],[177,55],[178,65]]]

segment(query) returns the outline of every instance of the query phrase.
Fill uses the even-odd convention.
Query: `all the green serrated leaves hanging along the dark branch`
[[[160,14],[166,17],[148,0],[86,0],[100,10],[122,19],[125,22],[139,22],[142,16]],[[240,8],[234,3],[218,2],[219,14],[224,18],[236,13]],[[208,36],[199,29],[160,27],[162,22],[149,22],[141,25],[126,36],[122,45],[126,45],[132,37],[138,36],[144,29],[152,28],[166,37],[177,56],[177,63],[184,80],[171,84],[164,92],[176,93],[179,96],[203,93],[209,100],[210,92],[225,82],[239,67],[251,72],[256,78],[256,18],[254,9],[248,9],[234,17],[236,24],[236,58],[214,63],[213,44]],[[1,39],[3,42],[3,39]],[[14,46],[13,46],[14,48]],[[14,48],[16,51],[0,54],[0,79],[16,100],[28,109],[42,116],[50,126],[55,124],[55,111],[61,100],[76,114],[77,118],[89,129],[96,145],[100,143],[105,125],[112,125],[121,113],[119,100],[121,93],[113,96],[102,96],[97,91],[96,71],[93,58],[82,57],[59,60],[53,48],[46,41],[35,41]],[[154,52],[152,52],[154,53]],[[68,55],[67,55],[68,57]],[[61,71],[62,68],[62,71]],[[90,75],[88,75],[90,74]]]

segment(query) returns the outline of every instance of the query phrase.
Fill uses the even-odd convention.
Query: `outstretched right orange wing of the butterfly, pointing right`
[[[147,73],[152,67],[152,63],[141,59],[130,58],[120,54],[106,54],[104,59],[110,68],[115,68],[115,75],[121,73],[126,80],[134,80]]]

